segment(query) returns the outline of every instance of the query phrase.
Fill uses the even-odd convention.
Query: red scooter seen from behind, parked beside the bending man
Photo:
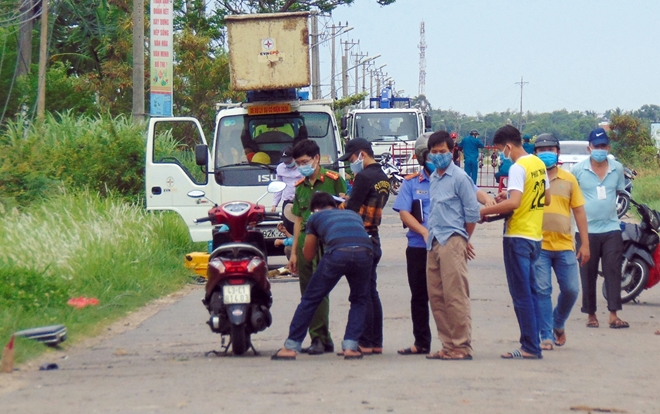
[[[273,181],[268,193],[284,190],[286,184]],[[266,194],[268,194],[266,193]],[[210,221],[213,225],[213,252],[209,257],[206,293],[202,303],[209,311],[207,322],[211,331],[222,335],[227,353],[234,355],[249,348],[257,355],[250,336],[270,326],[273,298],[268,281],[268,265],[264,235],[255,226],[265,219],[279,219],[279,213],[267,213],[264,206],[247,201],[231,201],[215,206],[208,216],[196,223]],[[189,197],[203,198],[203,191],[190,191]],[[277,217],[275,217],[277,216]],[[226,225],[229,229],[226,230]],[[229,343],[225,346],[225,336]],[[217,353],[215,351],[212,351]]]

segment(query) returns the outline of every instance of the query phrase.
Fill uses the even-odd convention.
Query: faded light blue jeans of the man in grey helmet
[[[559,284],[557,307],[552,310],[552,269]],[[553,329],[564,329],[580,292],[578,263],[572,250],[541,250],[536,267],[536,294],[538,309],[536,323],[541,341],[554,339]]]

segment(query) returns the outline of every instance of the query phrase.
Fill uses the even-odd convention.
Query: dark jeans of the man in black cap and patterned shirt
[[[376,267],[383,251],[380,248],[380,238],[378,235],[372,235],[373,242],[373,261],[371,266],[371,282],[369,283],[369,296],[367,298],[367,312],[364,319],[364,331],[360,337],[360,345],[365,348],[382,348],[383,346],[383,306],[380,303],[378,295],[378,275]]]

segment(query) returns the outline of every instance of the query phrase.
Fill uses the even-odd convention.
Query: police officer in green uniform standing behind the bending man
[[[326,170],[321,167],[321,153],[319,146],[311,139],[300,141],[293,148],[293,158],[296,160],[298,171],[303,179],[296,183],[296,193],[293,199],[291,213],[296,216],[293,226],[293,246],[289,269],[298,273],[300,292],[305,293],[315,264],[318,263],[318,255],[312,261],[305,260],[303,246],[305,244],[305,225],[312,211],[309,203],[314,193],[323,191],[332,195],[346,193],[346,181],[335,171]],[[319,355],[324,352],[334,352],[334,344],[330,337],[329,329],[330,299],[326,296],[316,309],[312,323],[309,325],[309,336],[312,344],[303,349],[310,355]]]

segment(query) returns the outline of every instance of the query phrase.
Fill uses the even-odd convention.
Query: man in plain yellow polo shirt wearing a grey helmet
[[[552,205],[543,211],[543,243],[536,261],[536,294],[538,308],[536,322],[541,335],[541,349],[550,351],[566,343],[564,324],[571,314],[580,293],[578,259],[584,266],[588,261],[589,235],[584,197],[575,176],[557,167],[559,141],[552,134],[541,134],[534,143],[534,154],[545,164],[552,186]],[[575,254],[571,211],[580,231],[580,249]],[[559,298],[552,309],[552,270],[559,284]]]

